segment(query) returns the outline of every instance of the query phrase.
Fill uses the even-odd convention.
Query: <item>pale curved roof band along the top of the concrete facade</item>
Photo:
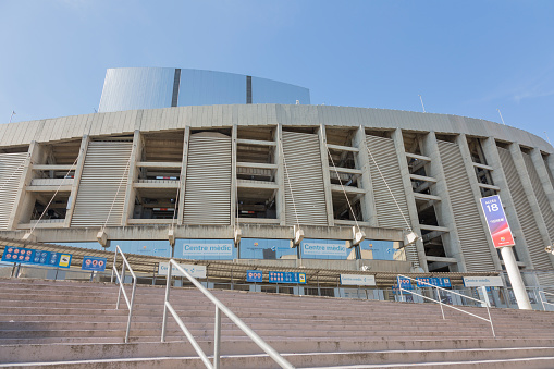
[[[0,124],[0,146],[28,145],[79,138],[83,135],[113,135],[160,130],[221,127],[232,125],[358,126],[402,128],[445,134],[494,137],[537,147],[554,153],[554,147],[527,131],[475,118],[390,109],[294,104],[218,104],[62,116]]]

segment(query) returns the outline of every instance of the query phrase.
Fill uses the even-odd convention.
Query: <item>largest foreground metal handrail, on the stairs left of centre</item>
[[[170,298],[170,287],[171,287],[171,273],[173,270],[173,266],[185,275],[200,292],[210,299],[213,305],[216,305],[216,323],[214,323],[214,337],[213,337],[213,365],[210,362],[201,347],[198,345],[196,340],[194,339],[190,331],[185,327],[183,320],[177,316],[176,311],[171,306]],[[223,303],[221,303],[216,296],[212,295],[205,286],[201,285],[193,275],[190,275],[186,270],[184,270],[175,260],[171,259],[168,266],[168,279],[165,282],[165,303],[163,304],[163,323],[161,329],[161,342],[165,342],[165,329],[168,327],[168,310],[171,312],[178,327],[185,333],[186,337],[195,348],[200,359],[206,365],[206,368],[209,369],[219,369],[220,368],[220,347],[221,347],[221,312],[223,312],[232,322],[234,322],[247,336],[253,340],[255,344],[258,345],[261,349],[266,352],[276,364],[281,366],[281,368],[294,369],[293,365],[284,359],[279,353],[266,343],[258,334],[256,334],[248,325],[246,325],[237,316],[233,313]]]

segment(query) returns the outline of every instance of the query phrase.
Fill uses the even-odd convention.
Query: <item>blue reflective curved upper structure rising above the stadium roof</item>
[[[106,73],[100,112],[233,103],[310,103],[308,88],[249,75],[118,67]]]

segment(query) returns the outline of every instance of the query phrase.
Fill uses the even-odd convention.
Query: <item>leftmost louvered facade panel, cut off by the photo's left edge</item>
[[[8,230],[27,152],[0,153],[0,230]]]

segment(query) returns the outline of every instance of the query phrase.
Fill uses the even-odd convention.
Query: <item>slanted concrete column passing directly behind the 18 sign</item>
[[[502,205],[504,206],[506,219],[508,220],[514,239],[516,241],[515,247],[517,255],[519,256],[519,261],[525,262],[526,268],[532,269],[533,265],[531,262],[531,257],[529,256],[529,249],[526,246],[527,241],[525,239],[524,231],[521,229],[521,224],[519,223],[519,218],[517,217],[514,198],[512,197],[508,182],[502,168],[502,161],[494,137],[491,136],[489,138],[482,139],[481,147],[483,149],[483,153],[487,158],[489,167],[493,168],[493,171],[491,172],[492,181],[494,182],[495,186],[501,188],[500,197],[502,199]]]

